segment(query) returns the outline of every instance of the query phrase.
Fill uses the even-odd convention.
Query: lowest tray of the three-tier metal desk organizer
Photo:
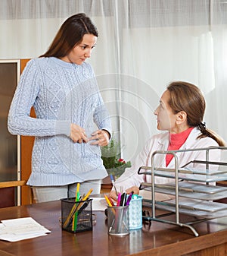
[[[176,201],[156,202],[155,207],[161,210],[176,212]],[[179,213],[206,219],[227,216],[227,204],[194,199],[179,199]]]

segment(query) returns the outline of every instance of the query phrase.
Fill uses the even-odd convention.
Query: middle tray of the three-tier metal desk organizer
[[[142,183],[151,191],[151,183]],[[176,195],[175,182],[155,185],[155,192]],[[227,197],[227,187],[203,185],[193,182],[179,182],[179,197],[194,198],[204,201],[216,201]]]

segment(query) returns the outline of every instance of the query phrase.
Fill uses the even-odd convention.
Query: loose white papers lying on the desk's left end
[[[2,223],[0,223],[0,239],[9,242],[33,239],[41,235],[47,235],[50,232],[31,217],[2,220]]]

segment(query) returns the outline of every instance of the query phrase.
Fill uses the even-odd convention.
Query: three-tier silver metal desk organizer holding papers
[[[176,153],[187,151],[206,151],[206,161],[191,161],[185,166],[179,168],[179,160]],[[195,236],[199,234],[194,229],[194,223],[205,220],[216,219],[222,216],[227,216],[227,204],[215,202],[222,198],[226,198],[227,187],[218,185],[210,185],[210,182],[219,182],[227,180],[227,163],[225,162],[210,162],[209,154],[212,150],[227,150],[227,147],[206,147],[191,150],[166,150],[155,151],[151,155],[151,167],[141,166],[138,169],[138,174],[151,175],[151,183],[141,183],[140,189],[148,189],[151,191],[151,200],[143,199],[146,206],[151,207],[151,216],[144,216],[143,220],[154,220],[162,223],[169,223],[191,229]],[[227,151],[225,151],[226,153]],[[155,156],[157,154],[173,154],[175,160],[175,168],[158,168],[155,166]],[[204,169],[195,169],[187,167],[191,163],[204,165]],[[215,166],[215,169],[210,169],[210,166]],[[155,176],[173,179],[173,182],[166,184],[155,184]],[[169,194],[174,199],[169,201],[156,201],[155,192],[161,194]],[[165,210],[168,213],[156,215],[155,210]],[[162,217],[169,214],[176,214],[175,222],[163,220]],[[191,223],[181,223],[179,214],[187,214],[195,216],[197,220]]]

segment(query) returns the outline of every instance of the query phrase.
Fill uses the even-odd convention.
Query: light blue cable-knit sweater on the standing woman
[[[32,106],[36,119],[30,117]],[[98,146],[71,141],[72,122],[88,136],[97,128],[111,131],[91,65],[54,57],[30,60],[8,115],[11,134],[36,137],[28,185],[66,185],[107,175]]]

